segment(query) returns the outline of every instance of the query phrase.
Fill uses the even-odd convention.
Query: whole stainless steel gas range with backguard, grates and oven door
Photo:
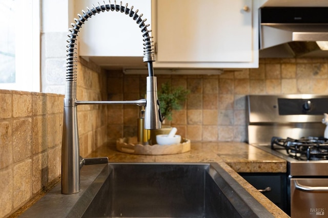
[[[288,162],[288,213],[328,217],[328,96],[248,96],[249,143]]]

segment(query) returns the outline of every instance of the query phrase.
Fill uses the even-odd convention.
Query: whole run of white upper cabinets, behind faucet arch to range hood
[[[75,14],[98,6],[98,1],[75,0]],[[146,24],[151,24],[148,29],[154,36],[155,68],[229,69],[258,67],[261,1],[127,0],[122,5],[134,6],[134,11],[138,9],[138,14],[147,18]],[[79,56],[101,67],[145,67],[142,33],[124,13],[93,15],[80,29],[78,43]]]

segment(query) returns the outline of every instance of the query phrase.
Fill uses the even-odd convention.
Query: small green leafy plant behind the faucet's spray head
[[[181,110],[182,104],[186,101],[190,90],[178,86],[172,88],[169,82],[162,83],[158,91],[159,110],[162,119],[172,120],[172,110]]]

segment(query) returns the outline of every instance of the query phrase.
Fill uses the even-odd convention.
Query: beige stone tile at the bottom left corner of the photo
[[[12,169],[0,170],[0,217],[7,217],[13,203]]]

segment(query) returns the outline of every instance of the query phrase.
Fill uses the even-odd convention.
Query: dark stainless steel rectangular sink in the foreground
[[[217,163],[110,163],[74,201],[60,217],[273,217]]]

